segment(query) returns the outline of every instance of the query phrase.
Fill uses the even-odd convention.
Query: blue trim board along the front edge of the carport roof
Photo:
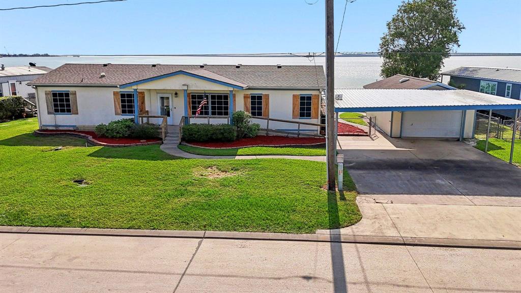
[[[390,111],[450,111],[450,110],[510,110],[521,109],[518,105],[466,105],[466,106],[421,106],[421,107],[343,107],[334,112],[390,112]]]

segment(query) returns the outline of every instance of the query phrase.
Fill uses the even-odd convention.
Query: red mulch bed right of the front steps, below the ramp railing
[[[203,148],[243,148],[244,146],[279,146],[279,145],[307,145],[326,143],[325,138],[313,137],[283,137],[283,136],[256,136],[241,138],[232,142],[191,142],[190,145]]]

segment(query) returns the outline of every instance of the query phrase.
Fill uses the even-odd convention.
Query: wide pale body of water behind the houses
[[[3,57],[5,66],[38,66],[56,68],[65,63],[123,63],[123,64],[244,64],[244,65],[326,65],[326,58],[316,57],[217,57],[217,56],[80,56],[80,57]],[[380,57],[337,57],[335,59],[335,87],[362,88],[364,84],[381,79]],[[445,59],[443,71],[460,66],[521,68],[521,56],[454,56]]]

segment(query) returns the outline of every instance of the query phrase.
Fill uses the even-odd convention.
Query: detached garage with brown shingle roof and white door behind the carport
[[[364,89],[386,90],[456,90],[441,82],[423,78],[395,75],[366,84]],[[381,91],[389,94],[389,91]],[[377,93],[377,92],[376,92]],[[398,93],[398,92],[396,92]],[[403,99],[414,99],[409,92],[400,92]],[[414,93],[414,92],[411,92]],[[475,110],[468,111],[382,111],[367,112],[376,117],[376,125],[390,137],[403,138],[460,138],[465,125],[464,138],[473,137]]]

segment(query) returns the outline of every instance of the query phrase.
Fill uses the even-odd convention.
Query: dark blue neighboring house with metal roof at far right
[[[457,88],[521,100],[521,69],[466,66],[441,75],[450,76],[450,84]],[[492,112],[508,119],[515,115],[513,110]]]

